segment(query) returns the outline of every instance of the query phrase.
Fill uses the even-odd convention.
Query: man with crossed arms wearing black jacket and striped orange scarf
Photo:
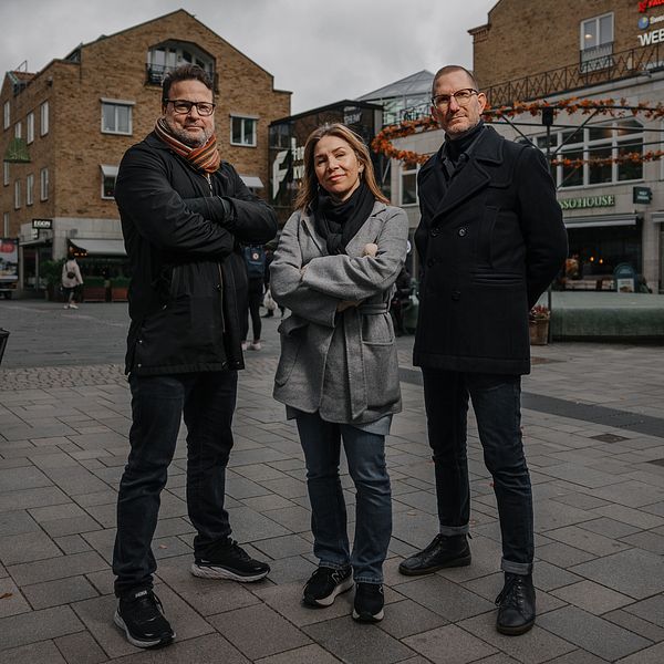
[[[151,549],[180,419],[187,425],[187,508],[197,577],[257,581],[270,570],[230,538],[224,508],[232,447],[247,271],[240,242],[277,232],[273,210],[221,162],[212,84],[199,68],[166,76],[163,115],[125,154],[115,199],[132,264],[126,372],[131,453],[120,484],[113,552],[115,623],[139,647],[175,637],[153,592]]]

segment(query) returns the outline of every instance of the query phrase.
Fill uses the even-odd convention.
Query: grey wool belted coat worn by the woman
[[[279,326],[277,401],[341,424],[401,411],[388,307],[407,238],[405,212],[376,201],[346,255],[330,256],[313,216],[290,217],[270,264],[272,297],[292,312]],[[367,242],[378,246],[375,258],[362,257]],[[338,313],[343,300],[361,304]]]

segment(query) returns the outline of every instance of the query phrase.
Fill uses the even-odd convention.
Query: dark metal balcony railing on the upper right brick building
[[[507,106],[664,70],[664,44],[661,49],[657,43],[582,59],[578,64],[491,85],[484,92],[491,106]]]

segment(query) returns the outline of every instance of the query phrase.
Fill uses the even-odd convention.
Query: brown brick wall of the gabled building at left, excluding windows
[[[29,164],[10,164],[9,184],[0,184],[0,235],[9,212],[10,235],[19,235],[32,218],[117,219],[114,200],[102,198],[101,165],[117,166],[125,151],[144,138],[160,113],[160,86],[146,83],[146,59],[152,46],[170,41],[195,44],[215,62],[216,128],[222,158],[240,175],[258,176],[268,187],[268,126],[290,113],[290,93],[277,91],[273,77],[249,58],[184,10],[129,28],[77,48],[68,60],[55,60],[32,76],[14,95],[6,76],[0,106],[10,104],[10,126],[0,127],[0,153],[27,115],[34,112],[35,137]],[[21,77],[28,79],[25,74]],[[102,100],[131,102],[132,134],[102,132]],[[40,135],[40,105],[49,102],[49,133]],[[257,146],[230,145],[230,115],[258,118]],[[40,200],[40,172],[49,169],[49,197]],[[34,175],[34,203],[25,205],[25,181]],[[14,181],[22,201],[14,209]],[[71,224],[70,224],[71,225]],[[116,226],[116,224],[114,224]]]

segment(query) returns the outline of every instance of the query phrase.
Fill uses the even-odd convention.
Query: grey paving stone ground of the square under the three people
[[[295,429],[271,398],[279,319],[263,322],[263,350],[247,353],[240,374],[228,508],[235,537],[272,572],[257,584],[190,575],[183,429],[154,542],[156,590],[178,637],[142,652],[112,623],[110,559],[129,425],[126,307],[74,313],[45,302],[0,303],[0,326],[11,330],[0,366],[2,664],[664,662],[661,346],[533,347],[523,380],[523,403],[533,407],[523,409],[522,424],[539,614],[530,633],[508,637],[494,627],[500,533],[473,419],[474,562],[426,578],[397,572],[436,529],[412,338],[398,340],[404,411],[387,439],[394,533],[385,620],[355,624],[352,593],[326,610],[300,604],[315,563],[310,510]],[[352,528],[345,470],[343,485]]]

